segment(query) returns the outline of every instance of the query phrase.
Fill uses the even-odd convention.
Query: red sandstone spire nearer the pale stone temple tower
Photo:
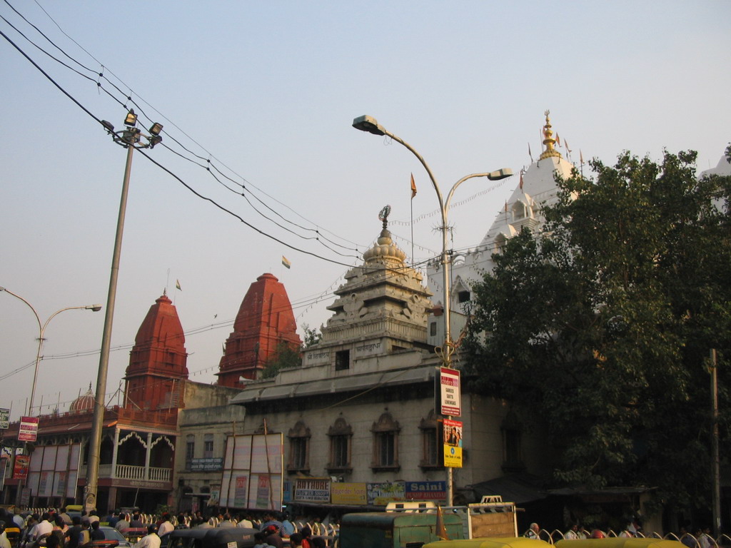
[[[269,273],[260,275],[249,286],[246,297],[226,340],[226,351],[219,363],[219,384],[242,387],[239,377],[257,378],[257,371],[284,341],[298,348],[302,341],[297,334],[295,314],[284,284]]]

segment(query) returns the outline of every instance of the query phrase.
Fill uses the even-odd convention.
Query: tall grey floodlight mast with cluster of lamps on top
[[[114,302],[117,296],[117,278],[119,275],[119,257],[122,248],[122,233],[124,232],[124,214],[127,208],[127,192],[129,190],[129,173],[132,170],[132,153],[136,148],[153,148],[162,141],[160,132],[162,124],[154,123],[149,135],[145,135],[137,128],[137,115],[129,109],[124,118],[124,129],[115,132],[112,123],[102,120],[102,126],[118,145],[127,149],[127,159],[124,164],[124,179],[122,180],[122,195],[119,201],[119,215],[117,217],[117,232],[114,239],[112,255],[112,272],[109,278],[109,294],[107,295],[107,311],[102,333],[102,351],[99,356],[99,373],[96,376],[96,395],[94,397],[94,419],[91,422],[91,440],[89,441],[89,456],[86,471],[86,497],[84,505],[86,511],[96,508],[96,490],[99,484],[99,451],[102,447],[102,422],[104,422],[104,397],[107,392],[107,372],[109,370],[109,352],[112,340],[112,323],[114,319]],[[145,142],[143,142],[143,139]]]

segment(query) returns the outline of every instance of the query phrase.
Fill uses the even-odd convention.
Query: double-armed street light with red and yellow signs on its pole
[[[358,118],[355,118],[353,120],[353,127],[355,129],[360,129],[361,132],[368,132],[372,133],[374,135],[387,135],[391,139],[393,139],[396,142],[400,142],[401,145],[404,145],[406,148],[411,151],[414,156],[417,157],[417,159],[421,162],[421,164],[424,166],[424,169],[429,175],[429,179],[431,180],[431,184],[434,187],[434,190],[436,191],[436,197],[439,199],[439,210],[442,213],[442,226],[439,227],[442,230],[442,290],[443,290],[443,296],[442,296],[442,306],[444,307],[444,346],[442,347],[442,360],[444,362],[444,366],[447,368],[452,367],[452,353],[454,352],[454,345],[452,344],[452,333],[451,333],[451,326],[450,326],[450,314],[451,314],[451,308],[452,308],[452,302],[451,302],[451,295],[450,295],[450,250],[447,249],[447,212],[449,211],[450,202],[452,201],[452,195],[454,194],[455,190],[458,186],[460,186],[464,181],[475,178],[475,177],[486,177],[489,180],[500,180],[504,179],[506,177],[510,177],[512,175],[512,170],[508,168],[503,168],[501,170],[488,172],[488,173],[473,173],[471,175],[466,175],[460,180],[458,180],[454,186],[452,186],[452,189],[450,189],[449,194],[447,194],[447,199],[444,200],[442,198],[442,191],[439,189],[439,184],[436,182],[436,178],[434,178],[433,173],[431,172],[431,168],[428,166],[426,161],[422,158],[421,154],[418,153],[412,145],[409,145],[408,142],[401,139],[401,137],[398,137],[394,135],[393,133],[389,132],[387,129],[385,129],[384,126],[382,126],[376,118],[373,116],[363,115],[359,116]],[[454,482],[452,480],[452,468],[447,467],[447,505],[452,505],[452,501],[454,500]]]

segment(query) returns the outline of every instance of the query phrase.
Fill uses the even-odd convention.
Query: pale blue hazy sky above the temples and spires
[[[419,151],[443,194],[463,175],[528,166],[545,110],[573,161],[692,149],[705,170],[731,140],[727,0],[7,0],[0,15],[0,286],[42,323],[106,306],[126,152],[99,121],[121,129],[134,107],[143,131],[164,126],[162,144],[133,155],[107,403],[122,401],[137,329],[164,291],[190,378],[208,383],[262,273],[284,283],[303,335],[327,322],[383,206],[409,262],[438,254],[425,170],[353,129],[357,116]],[[480,243],[516,184],[460,186],[455,248]],[[48,323],[42,413],[96,387],[104,317]],[[12,419],[38,337],[31,308],[0,292]]]

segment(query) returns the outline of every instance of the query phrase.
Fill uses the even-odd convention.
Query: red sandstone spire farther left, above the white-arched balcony
[[[185,335],[178,311],[164,293],[150,307],[129,357],[124,405],[136,409],[181,407],[182,382],[188,378]]]

